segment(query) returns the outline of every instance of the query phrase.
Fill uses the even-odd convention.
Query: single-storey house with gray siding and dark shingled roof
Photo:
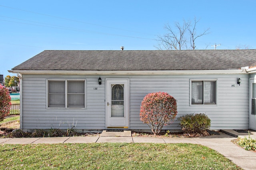
[[[10,72],[20,77],[23,131],[149,130],[140,104],[159,91],[177,100],[177,117],[206,113],[211,129],[256,130],[255,66],[256,50],[54,50]]]

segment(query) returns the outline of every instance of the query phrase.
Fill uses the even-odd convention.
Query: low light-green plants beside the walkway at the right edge
[[[248,132],[249,133],[249,132]],[[252,139],[250,137],[250,133],[249,133],[249,137],[238,137],[238,139],[235,142],[237,145],[239,145],[240,147],[244,148],[245,150],[256,150],[256,139]]]

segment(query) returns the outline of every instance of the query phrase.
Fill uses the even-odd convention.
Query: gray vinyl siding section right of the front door
[[[237,78],[242,79],[239,86]],[[190,106],[190,79],[218,79],[217,105]],[[232,87],[232,85],[235,85]],[[139,116],[140,102],[151,92],[168,92],[177,100],[178,115],[206,113],[211,129],[248,128],[248,75],[177,75],[130,78],[130,128],[148,129]],[[176,120],[164,129],[180,129]]]

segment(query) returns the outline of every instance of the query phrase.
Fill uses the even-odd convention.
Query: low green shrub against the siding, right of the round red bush
[[[204,113],[184,115],[179,117],[178,120],[181,129],[188,133],[200,132],[211,126],[211,120]]]

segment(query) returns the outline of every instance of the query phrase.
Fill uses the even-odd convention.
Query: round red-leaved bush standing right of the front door
[[[141,102],[140,120],[148,124],[154,135],[160,133],[162,127],[171,123],[176,115],[176,100],[168,93],[150,93]]]

